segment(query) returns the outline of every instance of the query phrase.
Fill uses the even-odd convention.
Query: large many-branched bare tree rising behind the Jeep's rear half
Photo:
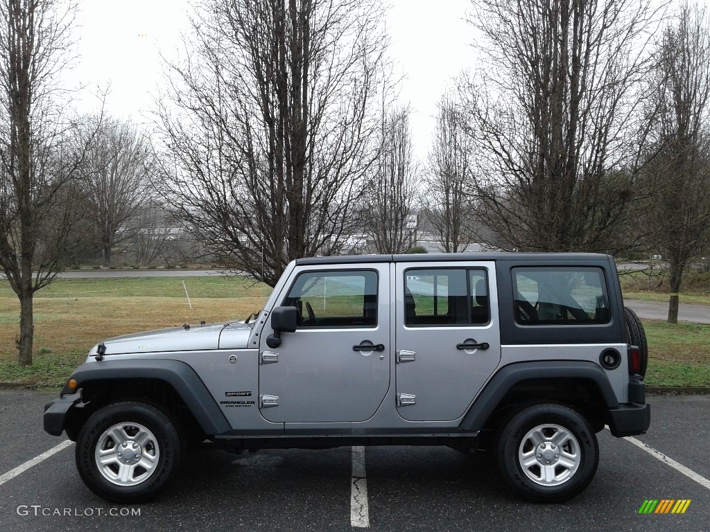
[[[473,0],[486,65],[461,84],[478,213],[520,250],[613,251],[645,143],[648,0]]]

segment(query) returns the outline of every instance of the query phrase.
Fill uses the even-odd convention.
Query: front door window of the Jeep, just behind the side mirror
[[[376,326],[377,272],[302,273],[283,306],[298,309],[300,327]]]

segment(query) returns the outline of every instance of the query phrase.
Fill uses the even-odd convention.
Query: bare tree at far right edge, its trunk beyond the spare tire
[[[704,9],[685,3],[658,45],[645,222],[669,267],[668,322],[678,321],[685,267],[710,236],[710,27]]]

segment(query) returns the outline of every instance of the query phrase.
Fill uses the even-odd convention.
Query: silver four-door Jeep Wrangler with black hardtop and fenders
[[[564,501],[595,433],[648,429],[646,350],[608,255],[304,258],[253,321],[94,346],[44,428],[119,503],[158,494],[187,445],[486,450],[520,496]]]

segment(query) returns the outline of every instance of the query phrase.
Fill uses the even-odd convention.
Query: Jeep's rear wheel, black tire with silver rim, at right
[[[599,444],[589,423],[561,404],[535,404],[513,414],[503,423],[497,444],[506,482],[532,502],[577,497],[599,464]]]

